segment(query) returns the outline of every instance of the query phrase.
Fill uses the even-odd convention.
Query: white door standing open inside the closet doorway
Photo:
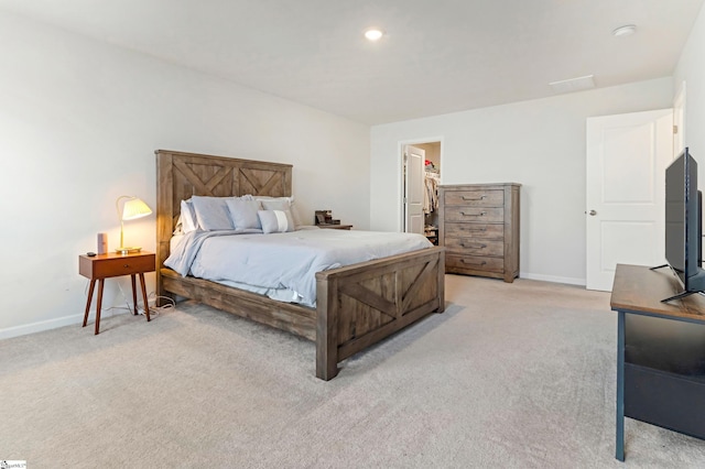
[[[423,234],[423,168],[426,152],[404,145],[404,231]]]

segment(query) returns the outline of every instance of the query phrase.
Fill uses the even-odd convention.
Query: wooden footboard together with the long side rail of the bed
[[[445,308],[445,248],[430,248],[316,274],[316,309],[161,269],[159,291],[316,342],[316,377],[430,313]]]

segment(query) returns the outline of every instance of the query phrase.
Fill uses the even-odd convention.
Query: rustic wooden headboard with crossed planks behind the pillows
[[[181,201],[193,195],[292,195],[292,165],[156,150],[156,271],[169,257]]]

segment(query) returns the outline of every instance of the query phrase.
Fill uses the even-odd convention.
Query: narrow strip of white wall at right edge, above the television
[[[685,81],[685,145],[698,162],[699,188],[705,189],[705,7],[695,20],[673,74],[674,89]]]

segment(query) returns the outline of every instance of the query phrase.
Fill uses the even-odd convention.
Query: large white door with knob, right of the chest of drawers
[[[672,152],[672,109],[587,119],[587,288],[611,291],[618,263],[665,263]]]

